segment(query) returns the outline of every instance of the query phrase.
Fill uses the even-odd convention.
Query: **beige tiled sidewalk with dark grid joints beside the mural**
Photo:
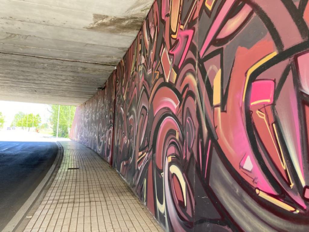
[[[25,232],[163,231],[98,154],[74,141],[61,145],[61,166]]]

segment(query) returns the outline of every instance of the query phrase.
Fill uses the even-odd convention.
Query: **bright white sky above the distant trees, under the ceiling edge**
[[[11,125],[14,119],[14,115],[19,111],[25,114],[40,114],[42,123],[48,122],[50,113],[48,111],[49,105],[27,103],[27,102],[16,102],[16,101],[0,101],[0,112],[5,116],[4,127]]]

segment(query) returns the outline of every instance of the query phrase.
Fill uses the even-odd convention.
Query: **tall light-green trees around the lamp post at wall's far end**
[[[50,122],[53,126],[53,135],[57,135],[57,121],[58,121],[58,105],[50,105],[49,112],[51,113]],[[69,137],[69,130],[72,126],[76,106],[60,105],[59,114],[59,130],[58,136],[63,138]]]

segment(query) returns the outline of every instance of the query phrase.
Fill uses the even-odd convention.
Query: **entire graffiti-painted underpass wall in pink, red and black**
[[[71,137],[166,230],[308,231],[308,15],[303,0],[156,1]]]

